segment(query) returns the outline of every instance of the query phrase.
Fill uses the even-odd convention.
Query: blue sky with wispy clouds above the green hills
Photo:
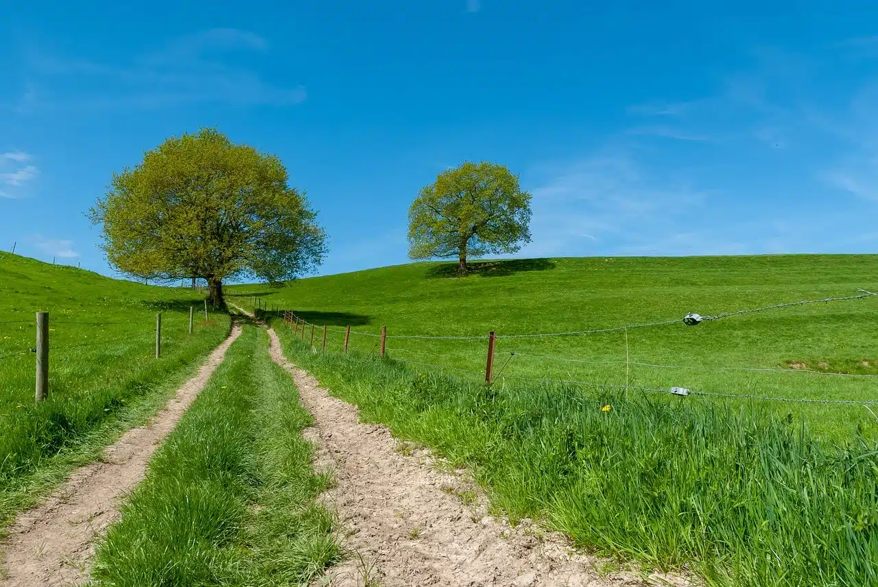
[[[406,262],[466,159],[534,195],[522,257],[878,244],[876,3],[129,4],[0,7],[4,250],[109,272],[85,212],[202,126],[284,160],[321,273]]]

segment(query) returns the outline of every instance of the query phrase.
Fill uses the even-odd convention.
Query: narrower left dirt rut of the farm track
[[[144,477],[150,457],[240,335],[241,325],[234,324],[231,335],[213,350],[198,374],[147,426],[128,430],[104,449],[103,461],[76,470],[60,490],[18,515],[2,546],[6,576],[0,572],[0,586],[54,587],[88,580],[86,564],[95,538],[119,517],[119,498]]]

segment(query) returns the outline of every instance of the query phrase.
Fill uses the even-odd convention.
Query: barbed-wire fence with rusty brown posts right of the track
[[[653,362],[644,362],[631,360],[628,354],[628,336],[627,331],[629,329],[644,329],[644,328],[652,328],[652,327],[661,327],[668,326],[673,324],[684,323],[690,326],[697,325],[700,322],[711,322],[724,320],[727,318],[732,318],[736,316],[743,315],[752,315],[760,312],[781,310],[786,308],[795,308],[802,307],[807,305],[814,304],[828,304],[834,302],[844,302],[844,301],[859,301],[867,298],[874,297],[878,295],[878,293],[870,292],[865,289],[859,289],[859,293],[856,295],[849,296],[841,296],[841,297],[828,297],[821,298],[817,300],[803,300],[803,301],[792,301],[792,302],[783,302],[778,304],[773,304],[770,306],[764,306],[759,308],[745,308],[739,309],[729,312],[723,312],[716,315],[687,315],[685,318],[674,318],[668,320],[661,320],[655,322],[640,322],[640,323],[632,323],[622,326],[614,326],[608,328],[600,328],[600,329],[580,329],[580,330],[571,330],[565,332],[550,332],[550,333],[526,333],[526,334],[513,334],[513,335],[496,335],[495,333],[490,333],[488,335],[472,335],[472,336],[436,336],[436,335],[428,335],[428,334],[402,334],[395,335],[392,333],[387,333],[385,329],[382,329],[381,334],[371,333],[371,332],[363,332],[359,330],[352,330],[350,327],[346,329],[335,329],[329,328],[327,326],[320,326],[317,324],[313,324],[312,322],[307,322],[303,320],[299,316],[295,315],[289,311],[281,311],[278,310],[278,315],[283,315],[284,322],[287,323],[291,328],[295,329],[297,334],[299,334],[299,329],[301,330],[301,335],[303,340],[305,339],[305,329],[306,327],[311,327],[312,329],[320,329],[321,331],[327,333],[333,333],[335,335],[342,336],[342,343],[339,344],[338,341],[335,341],[335,344],[330,344],[330,350],[335,350],[335,347],[339,347],[338,351],[347,351],[351,345],[351,341],[353,337],[364,337],[370,339],[377,339],[377,341],[371,345],[371,351],[380,347],[381,354],[385,355],[385,351],[391,351],[394,353],[411,353],[412,355],[421,355],[425,357],[438,357],[440,360],[449,361],[456,365],[461,364],[462,361],[466,362],[474,362],[475,360],[486,361],[487,364],[486,371],[474,371],[471,369],[465,369],[461,366],[452,366],[450,364],[441,364],[441,363],[424,363],[421,361],[413,361],[407,358],[400,358],[394,356],[392,360],[397,361],[401,364],[410,364],[416,367],[428,368],[431,370],[437,371],[451,371],[455,373],[465,373],[468,376],[478,375],[479,377],[484,376],[487,383],[493,382],[495,379],[506,379],[522,381],[522,382],[532,382],[532,383],[541,383],[541,384],[559,384],[559,385],[578,385],[582,387],[590,387],[590,388],[607,388],[607,389],[624,389],[629,391],[636,392],[644,392],[644,393],[664,393],[664,394],[673,394],[678,396],[684,395],[694,395],[694,396],[704,396],[704,397],[716,397],[716,398],[724,398],[724,399],[732,399],[732,400],[763,400],[763,401],[773,401],[773,402],[792,402],[792,403],[800,403],[800,404],[828,404],[828,405],[852,405],[852,406],[875,406],[878,405],[878,400],[847,400],[847,399],[826,399],[826,398],[802,398],[802,397],[783,397],[782,395],[768,395],[768,394],[759,394],[759,393],[720,393],[713,392],[709,390],[705,390],[702,388],[696,389],[688,389],[682,386],[646,386],[646,385],[633,385],[630,382],[630,372],[632,367],[637,367],[640,369],[659,369],[659,370],[679,370],[679,371],[707,371],[707,372],[751,372],[751,373],[765,373],[765,374],[774,374],[774,373],[782,373],[784,375],[789,374],[797,374],[800,376],[814,376],[814,377],[834,377],[834,378],[850,378],[852,380],[863,380],[864,382],[867,380],[872,380],[874,378],[878,378],[878,374],[874,373],[856,373],[856,372],[843,372],[843,371],[818,371],[816,369],[811,369],[807,367],[803,367],[802,364],[788,364],[788,367],[765,367],[765,366],[748,366],[748,365],[709,365],[709,364],[665,364],[665,363],[653,363]],[[691,321],[691,322],[690,322]],[[551,336],[585,336],[592,335],[598,333],[607,333],[607,332],[622,332],[626,333],[626,360],[604,360],[600,358],[581,358],[581,357],[561,357],[561,356],[552,356],[552,355],[541,355],[541,354],[530,354],[529,352],[522,352],[519,350],[509,350],[498,353],[495,357],[494,355],[494,341],[501,339],[529,339],[529,338],[544,338]],[[488,351],[487,356],[481,355],[477,357],[475,355],[471,355],[470,353],[460,352],[452,353],[452,352],[432,352],[428,350],[413,350],[407,349],[399,346],[388,347],[386,346],[386,341],[390,340],[421,340],[421,341],[488,341]],[[325,339],[324,339],[325,341]],[[316,345],[315,345],[316,346]],[[320,348],[325,349],[326,343],[321,342]],[[496,365],[496,361],[499,357],[503,357],[507,355],[505,362],[500,364],[500,370],[493,373],[493,368]],[[529,359],[536,359],[539,361],[544,361],[548,363],[559,362],[564,364],[582,364],[582,365],[599,365],[599,366],[618,366],[625,368],[625,385],[621,384],[609,384],[609,383],[599,383],[595,381],[587,381],[578,378],[533,378],[533,377],[525,377],[522,375],[514,375],[514,374],[506,374],[506,368],[513,360],[514,357],[524,357]],[[822,367],[822,364],[821,364]],[[808,394],[808,393],[806,393]]]

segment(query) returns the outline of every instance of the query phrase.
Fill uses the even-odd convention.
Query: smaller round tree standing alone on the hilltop
[[[530,242],[530,194],[518,176],[494,163],[467,161],[440,173],[408,210],[408,255],[414,259],[511,253]]]

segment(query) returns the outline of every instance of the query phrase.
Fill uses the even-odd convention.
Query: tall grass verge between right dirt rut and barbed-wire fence
[[[878,450],[758,404],[479,385],[374,354],[284,351],[369,421],[471,467],[511,520],[711,585],[878,584]]]

